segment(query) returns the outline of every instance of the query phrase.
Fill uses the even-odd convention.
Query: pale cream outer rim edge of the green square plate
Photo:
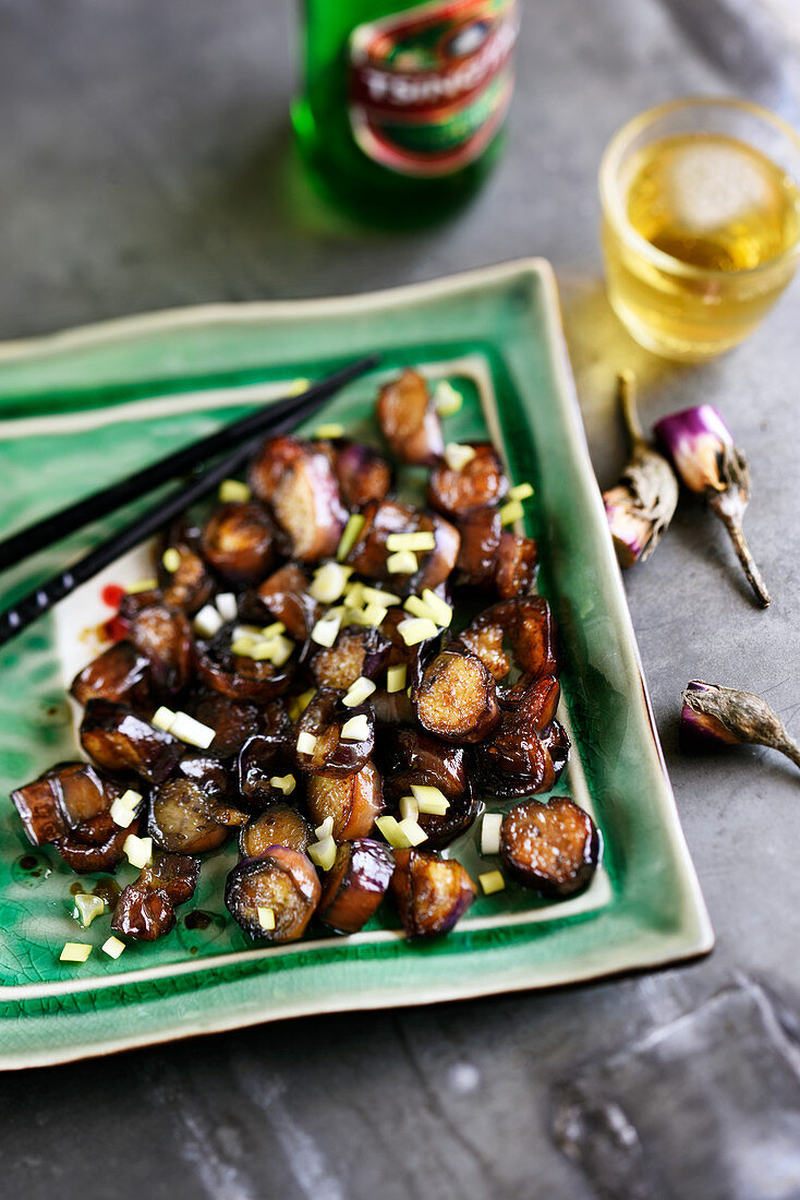
[[[345,998],[333,997],[331,1001],[320,996],[317,996],[313,1001],[309,1001],[308,998],[293,1000],[290,997],[283,1003],[271,1003],[269,1013],[259,1010],[248,1012],[246,1014],[234,1013],[231,1015],[224,1010],[224,1007],[222,1007],[222,1012],[217,1010],[212,1015],[210,1014],[207,1020],[198,1019],[194,1021],[184,1021],[178,1027],[170,1027],[166,1032],[151,1030],[138,1031],[133,1034],[122,1034],[119,1039],[114,1039],[108,1044],[102,1044],[100,1048],[94,1044],[91,1046],[71,1045],[68,1048],[60,1048],[58,1052],[44,1050],[41,1051],[41,1054],[29,1050],[22,1056],[0,1056],[0,1066],[26,1066],[32,1062],[62,1061],[71,1057],[79,1057],[88,1052],[97,1054],[103,1052],[104,1050],[110,1051],[136,1044],[169,1040],[175,1037],[190,1036],[201,1031],[211,1032],[212,1030],[230,1028],[259,1020],[273,1020],[290,1015],[300,1015],[303,1013],[371,1008],[380,1007],[387,1003],[433,1002],[533,986],[549,986],[564,982],[594,978],[596,976],[608,974],[615,971],[655,966],[674,959],[702,954],[711,948],[711,926],[699,893],[699,886],[688,858],[688,851],[678,823],[674,798],[672,796],[663,756],[661,754],[657,733],[655,731],[655,722],[652,720],[646,686],[642,674],[638,649],[633,637],[633,630],[630,622],[630,614],[627,612],[621,580],[613,559],[610,538],[608,535],[604,517],[602,516],[600,494],[594,482],[594,474],[588,457],[585,437],[575,395],[575,386],[571,378],[566,346],[560,328],[555,280],[548,263],[542,259],[523,259],[515,263],[500,264],[498,266],[482,268],[446,278],[353,296],[287,302],[267,301],[242,305],[203,305],[188,310],[167,310],[161,313],[122,318],[114,322],[102,323],[100,325],[84,326],[77,330],[50,335],[44,338],[6,343],[5,346],[0,346],[0,366],[13,364],[18,360],[41,360],[42,358],[59,354],[64,350],[73,348],[92,347],[103,342],[115,342],[120,340],[125,341],[126,338],[136,338],[143,335],[178,328],[201,328],[207,324],[235,324],[239,322],[247,322],[252,324],[253,322],[264,320],[270,323],[282,320],[313,320],[315,317],[342,313],[363,314],[365,312],[373,312],[378,308],[391,310],[395,305],[408,306],[417,299],[422,300],[432,296],[446,298],[449,294],[456,295],[462,290],[480,288],[483,284],[511,283],[513,280],[524,277],[525,275],[535,275],[542,287],[542,311],[545,318],[546,349],[549,359],[548,365],[552,368],[553,377],[555,379],[558,400],[563,406],[564,414],[567,419],[571,436],[570,450],[575,466],[582,476],[583,484],[585,485],[587,481],[590,484],[588,494],[591,497],[590,509],[594,509],[594,511],[590,511],[589,516],[594,521],[595,532],[600,539],[597,553],[604,558],[606,566],[609,564],[612,566],[613,583],[609,587],[608,594],[614,610],[614,620],[624,634],[626,658],[630,659],[630,661],[626,661],[625,666],[626,668],[630,668],[628,674],[631,676],[631,682],[636,678],[636,682],[640,688],[640,701],[645,708],[645,716],[649,722],[650,736],[652,739],[652,750],[655,751],[658,764],[660,786],[657,788],[656,802],[661,809],[660,815],[663,817],[666,832],[672,840],[672,851],[676,865],[676,884],[681,890],[681,899],[684,901],[684,907],[681,910],[681,928],[672,934],[666,931],[661,931],[658,934],[649,931],[650,937],[643,936],[640,942],[637,944],[626,943],[620,947],[603,947],[602,953],[597,955],[596,961],[589,964],[583,962],[581,970],[578,971],[571,970],[567,961],[566,965],[560,964],[554,966],[552,970],[542,968],[541,965],[534,966],[529,972],[523,972],[522,977],[501,977],[499,979],[483,978],[481,979],[479,986],[462,986],[457,980],[438,985],[437,983],[429,980],[421,990],[419,986],[415,988],[411,995],[402,988],[381,989],[380,986],[373,986],[369,990],[359,992],[357,995],[348,994]],[[24,421],[25,419],[23,418],[22,420]],[[31,420],[36,421],[37,418],[31,418]],[[16,420],[14,425],[18,424],[19,421]],[[608,583],[609,580],[607,578],[606,582]],[[480,954],[481,950],[475,953]],[[199,966],[200,964],[198,964],[198,967]],[[219,988],[224,989],[224,983],[222,980],[219,983]],[[217,1008],[221,1006],[217,1006]]]

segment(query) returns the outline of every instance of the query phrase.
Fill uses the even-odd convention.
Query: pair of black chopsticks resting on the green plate
[[[52,516],[44,517],[0,541],[0,571],[5,571],[37,551],[54,545],[67,534],[97,520],[98,516],[107,516],[125,504],[140,499],[142,496],[146,496],[161,484],[167,484],[188,470],[193,472],[188,482],[124,526],[122,529],[102,541],[72,566],[56,572],[38,588],[24,595],[11,608],[0,613],[0,646],[16,637],[43,613],[49,612],[53,605],[92,578],[114,559],[132,550],[145,538],[157,533],[191,504],[221,484],[223,479],[235,474],[253,454],[265,433],[275,436],[291,432],[300,421],[315,413],[339,388],[371,371],[379,359],[378,354],[359,359],[357,362],[351,362],[327,378],[320,379],[300,395],[287,396],[266,408],[241,418],[239,421],[231,421],[230,425],[223,426],[216,433],[199,438],[181,450],[160,458],[152,466],[134,472],[119,482],[103,487],[85,499],[70,504]],[[230,452],[212,467],[205,468],[204,464],[223,450]]]

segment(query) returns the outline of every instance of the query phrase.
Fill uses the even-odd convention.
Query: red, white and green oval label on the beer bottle
[[[447,175],[483,152],[513,91],[518,0],[434,0],[357,25],[350,125],[369,158]]]

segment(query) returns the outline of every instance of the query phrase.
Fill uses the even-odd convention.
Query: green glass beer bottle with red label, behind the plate
[[[519,0],[305,0],[293,107],[317,185],[381,224],[433,220],[497,156]]]

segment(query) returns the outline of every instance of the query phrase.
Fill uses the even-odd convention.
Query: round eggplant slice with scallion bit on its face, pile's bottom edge
[[[271,846],[258,858],[246,858],[228,876],[225,906],[253,937],[294,942],[306,931],[321,888],[312,863],[300,851]],[[267,929],[263,910],[271,910]]]

